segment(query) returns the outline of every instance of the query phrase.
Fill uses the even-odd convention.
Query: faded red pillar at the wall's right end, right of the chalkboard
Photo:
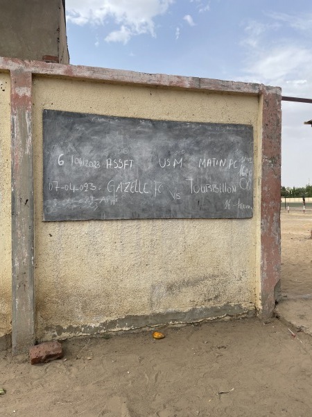
[[[281,272],[281,89],[261,87],[261,262],[259,315],[270,317]]]

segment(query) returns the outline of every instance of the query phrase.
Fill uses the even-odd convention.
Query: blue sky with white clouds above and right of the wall
[[[70,63],[312,99],[311,0],[66,0]],[[312,104],[282,101],[281,183],[312,183]]]

